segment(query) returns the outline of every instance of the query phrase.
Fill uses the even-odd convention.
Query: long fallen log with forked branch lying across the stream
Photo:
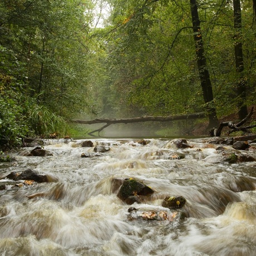
[[[89,135],[93,135],[95,132],[100,132],[106,127],[112,124],[131,124],[135,122],[167,122],[167,121],[176,121],[176,120],[186,120],[186,119],[201,119],[206,117],[205,112],[193,113],[193,114],[185,114],[185,115],[172,115],[172,116],[140,116],[140,117],[131,117],[126,119],[94,119],[94,120],[72,120],[72,122],[76,122],[78,124],[101,124],[106,123],[106,125],[102,126],[100,129],[88,132]]]

